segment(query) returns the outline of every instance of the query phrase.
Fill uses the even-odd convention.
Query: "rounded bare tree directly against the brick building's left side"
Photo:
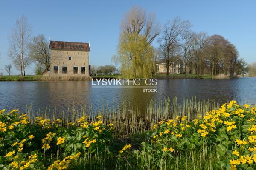
[[[43,66],[46,71],[50,68],[50,51],[49,42],[45,39],[44,35],[35,36],[32,43],[29,45],[29,57],[40,65],[38,68]]]

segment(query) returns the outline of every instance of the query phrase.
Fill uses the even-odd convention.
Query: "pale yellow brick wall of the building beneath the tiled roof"
[[[89,77],[89,51],[67,51],[51,49],[51,71],[50,75],[58,76],[87,76]],[[71,60],[69,60],[71,57]],[[54,66],[58,66],[55,73]],[[67,67],[67,73],[62,73],[62,67]],[[78,67],[78,74],[74,74],[73,67]],[[85,67],[85,74],[81,73],[81,67]]]

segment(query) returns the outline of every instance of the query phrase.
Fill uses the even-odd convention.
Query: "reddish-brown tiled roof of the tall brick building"
[[[85,42],[50,41],[50,49],[89,51],[90,44]]]

